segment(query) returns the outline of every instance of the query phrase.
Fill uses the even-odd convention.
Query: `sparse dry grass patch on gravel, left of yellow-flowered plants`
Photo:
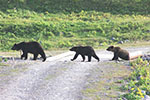
[[[83,95],[91,100],[117,99],[119,95],[123,94],[123,92],[120,91],[120,87],[124,84],[122,79],[129,75],[130,70],[127,66],[113,62],[100,64],[100,66],[103,65],[104,69],[93,69],[92,73],[94,73],[95,76],[98,75],[98,77],[88,77],[89,83],[82,91]]]

